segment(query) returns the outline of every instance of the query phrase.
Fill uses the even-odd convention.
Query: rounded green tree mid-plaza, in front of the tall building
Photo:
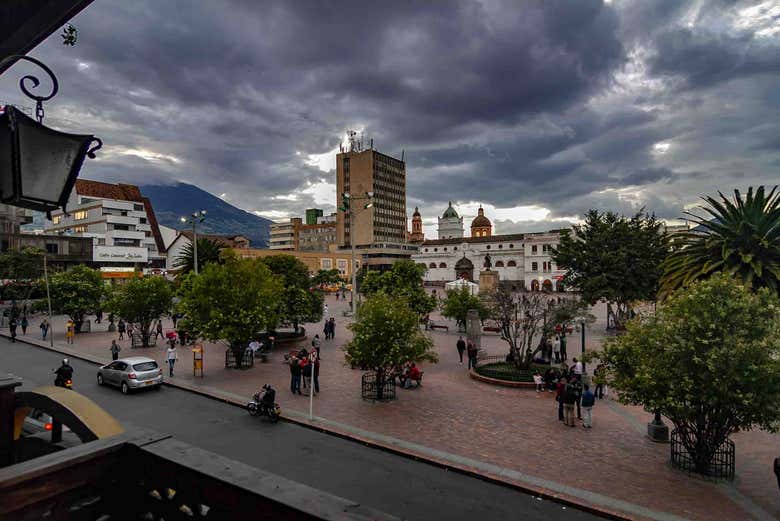
[[[402,297],[373,294],[349,329],[352,340],[343,348],[347,362],[375,371],[380,381],[409,362],[438,362],[433,341],[420,331],[419,315]]]

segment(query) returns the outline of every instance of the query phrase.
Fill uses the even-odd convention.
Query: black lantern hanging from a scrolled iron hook
[[[103,142],[89,134],[68,134],[44,126],[43,102],[57,94],[57,78],[46,65],[28,56],[10,56],[0,68],[16,59],[41,67],[51,78],[52,91],[47,96],[30,92],[27,82],[33,89],[41,82],[28,74],[19,87],[35,100],[36,119],[16,107],[0,106],[0,202],[49,213],[65,208],[84,158],[94,158]],[[91,146],[93,141],[95,146]]]

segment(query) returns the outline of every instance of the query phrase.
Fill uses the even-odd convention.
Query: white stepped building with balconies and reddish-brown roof
[[[93,264],[104,271],[165,267],[154,210],[137,186],[79,179],[66,209],[52,212],[44,231],[91,237]]]

